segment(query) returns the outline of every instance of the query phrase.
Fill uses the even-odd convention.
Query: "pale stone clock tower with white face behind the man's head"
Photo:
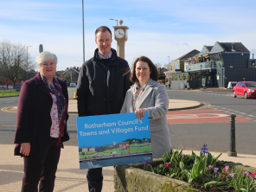
[[[129,28],[122,25],[122,20],[119,20],[119,24],[120,25],[113,27],[115,29],[114,35],[115,40],[118,42],[118,57],[125,59],[125,42],[128,40],[127,29]]]

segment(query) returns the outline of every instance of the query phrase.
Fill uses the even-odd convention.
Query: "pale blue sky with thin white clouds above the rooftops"
[[[255,0],[85,0],[85,60],[97,45],[94,32],[123,20],[128,29],[125,60],[141,55],[162,65],[215,42],[242,42],[256,54]],[[83,62],[82,1],[0,0],[0,42],[20,42],[31,59],[44,51],[57,55],[57,70]],[[117,48],[113,39],[112,48]],[[254,57],[255,58],[255,57]]]

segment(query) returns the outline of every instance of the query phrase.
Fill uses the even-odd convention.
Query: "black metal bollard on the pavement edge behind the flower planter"
[[[227,156],[229,157],[237,157],[237,152],[235,150],[235,126],[234,121],[236,115],[230,114],[230,135],[229,135],[229,151],[227,151]]]

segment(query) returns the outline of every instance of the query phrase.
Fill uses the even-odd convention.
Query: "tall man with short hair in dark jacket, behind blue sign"
[[[93,58],[80,69],[77,85],[79,117],[119,113],[125,93],[132,85],[130,73],[125,74],[129,70],[127,61],[111,48],[111,30],[105,26],[96,29],[95,42],[98,48]],[[102,168],[88,169],[90,192],[101,191],[102,181]]]

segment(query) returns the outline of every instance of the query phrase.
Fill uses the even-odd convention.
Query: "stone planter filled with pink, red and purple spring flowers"
[[[256,169],[217,161],[204,144],[200,156],[192,151],[166,152],[152,163],[117,166],[116,191],[256,191]]]

